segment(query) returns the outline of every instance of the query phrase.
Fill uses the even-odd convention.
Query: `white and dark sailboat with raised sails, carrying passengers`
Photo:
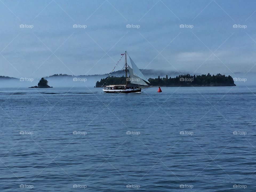
[[[130,65],[127,64],[127,55],[125,51],[126,84],[103,86],[102,90],[105,93],[141,93],[141,89],[152,87],[149,80],[142,74],[129,55]],[[127,76],[127,72],[129,72],[130,77]]]

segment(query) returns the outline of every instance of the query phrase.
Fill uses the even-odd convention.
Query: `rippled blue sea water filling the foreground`
[[[256,87],[157,89],[1,89],[0,191],[255,191]]]

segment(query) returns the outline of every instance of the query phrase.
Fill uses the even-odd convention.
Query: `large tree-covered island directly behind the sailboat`
[[[166,75],[164,78],[149,78],[151,86],[166,86],[166,87],[199,87],[199,86],[236,86],[233,78],[221,74],[211,75],[190,75],[184,74],[171,78]],[[125,84],[126,79],[122,77],[107,77],[96,82],[95,87],[103,87],[105,85],[121,85]]]

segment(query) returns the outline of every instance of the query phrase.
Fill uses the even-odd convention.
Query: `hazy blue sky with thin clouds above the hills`
[[[255,19],[250,0],[1,0],[0,75],[105,74],[125,51],[140,69],[255,73]]]

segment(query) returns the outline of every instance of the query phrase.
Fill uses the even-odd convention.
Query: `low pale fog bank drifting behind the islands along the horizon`
[[[174,72],[174,71],[162,71],[162,70],[144,70],[143,73],[147,78],[165,77],[176,77],[179,74],[187,74],[188,72]],[[121,77],[125,75],[123,71],[115,71],[111,76]],[[195,74],[195,75],[200,75]],[[216,75],[216,74],[215,74]],[[255,73],[230,73],[225,74],[226,76],[231,75],[234,79],[234,83],[237,86],[252,86],[256,83]],[[106,78],[108,74],[104,75],[80,75],[80,76],[50,76],[45,77],[48,81],[48,85],[52,87],[94,87],[97,81],[102,78]],[[2,88],[28,88],[36,86],[41,78],[12,78],[12,79],[1,79],[0,87]]]

